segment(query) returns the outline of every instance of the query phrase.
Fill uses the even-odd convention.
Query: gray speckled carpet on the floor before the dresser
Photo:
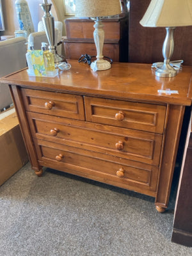
[[[171,242],[174,204],[159,214],[149,196],[26,164],[0,187],[0,255],[191,256]]]

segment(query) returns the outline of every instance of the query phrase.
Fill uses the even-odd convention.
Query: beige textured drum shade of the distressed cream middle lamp
[[[77,0],[76,17],[103,17],[121,13],[120,0]]]

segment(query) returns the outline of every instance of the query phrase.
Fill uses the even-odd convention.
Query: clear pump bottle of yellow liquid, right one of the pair
[[[55,74],[54,56],[52,52],[47,50],[47,44],[44,42],[42,42],[42,51],[44,56],[45,72],[47,76],[52,76]]]

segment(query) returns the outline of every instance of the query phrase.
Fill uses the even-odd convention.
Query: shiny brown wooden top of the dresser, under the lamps
[[[149,64],[113,63],[109,70],[93,72],[87,64],[68,63],[72,68],[57,77],[32,77],[24,69],[1,78],[1,82],[55,92],[191,105],[192,67],[183,67],[175,77],[160,78]]]

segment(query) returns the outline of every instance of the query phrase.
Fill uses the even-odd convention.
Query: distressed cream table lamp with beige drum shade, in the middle
[[[76,17],[95,18],[93,38],[97,49],[97,60],[93,61],[93,71],[111,68],[109,61],[103,59],[104,30],[102,17],[121,13],[120,0],[78,0],[76,1]]]

